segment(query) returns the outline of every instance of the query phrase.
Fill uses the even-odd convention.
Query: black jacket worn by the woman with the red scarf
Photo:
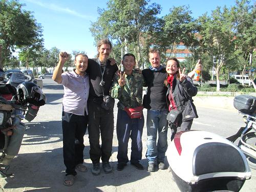
[[[166,101],[169,106],[169,93],[172,90],[172,96],[178,111],[182,113],[182,121],[198,118],[196,106],[193,103],[193,96],[197,95],[197,87],[192,79],[187,77],[183,82],[174,77],[173,87],[168,85]]]

